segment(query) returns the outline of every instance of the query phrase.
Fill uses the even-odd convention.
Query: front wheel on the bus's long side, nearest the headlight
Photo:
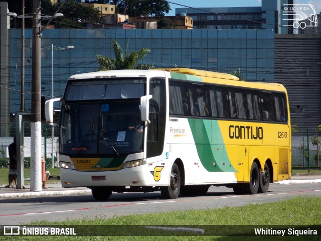
[[[170,186],[161,187],[162,196],[165,199],[176,199],[180,194],[181,174],[176,163],[173,164],[171,170]]]

